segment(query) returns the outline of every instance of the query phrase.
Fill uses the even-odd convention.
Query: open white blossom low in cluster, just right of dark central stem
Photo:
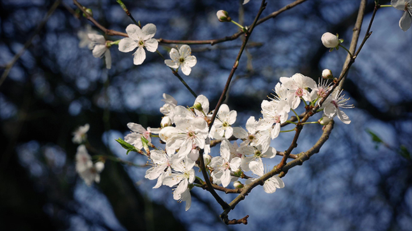
[[[210,166],[213,168],[213,181],[219,180],[223,187],[230,183],[230,171],[235,171],[240,166],[241,159],[233,157],[230,159],[230,143],[228,140],[223,140],[220,147],[220,157],[213,157]]]

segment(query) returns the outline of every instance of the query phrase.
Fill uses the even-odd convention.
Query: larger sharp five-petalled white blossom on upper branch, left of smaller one
[[[138,49],[133,54],[133,63],[134,65],[140,65],[146,59],[146,52],[144,47],[147,51],[155,52],[159,42],[153,38],[154,34],[156,33],[156,26],[154,24],[146,24],[145,26],[140,29],[139,26],[135,24],[129,24],[126,27],[126,33],[128,38],[123,38],[119,42],[119,51],[122,52],[130,52],[133,51],[136,47]]]

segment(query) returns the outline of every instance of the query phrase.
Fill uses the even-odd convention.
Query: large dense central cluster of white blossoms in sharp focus
[[[124,141],[136,150],[146,150],[152,167],[147,170],[145,177],[157,180],[154,189],[161,185],[172,187],[173,198],[185,201],[187,210],[191,206],[190,190],[196,184],[201,184],[196,181],[196,171],[193,169],[198,167],[196,161],[200,153],[203,153],[205,166],[214,184],[227,187],[230,182],[235,182],[235,187],[242,187],[239,178],[251,171],[256,178],[247,177],[244,184],[249,184],[264,175],[263,159],[276,156],[277,151],[270,146],[270,142],[279,136],[281,123],[288,120],[290,111],[295,113],[302,101],[315,106],[330,89],[330,84],[324,79],[316,83],[310,77],[298,73],[292,77],[281,77],[280,83],[274,88],[274,97],[263,100],[261,104],[262,118],[256,120],[251,116],[246,129],[234,127],[237,112],[222,104],[210,131],[209,123],[214,111],[209,111],[207,97],[199,95],[193,106],[184,107],[177,105],[176,99],[170,95],[163,94],[165,104],[160,109],[164,115],[161,126],[145,129],[142,125],[130,122],[128,127],[131,133]],[[352,107],[346,105],[347,100],[341,96],[341,92],[331,93],[321,106],[324,115],[320,123],[325,125],[335,116],[345,124],[350,123],[351,120],[341,111]],[[164,150],[152,145],[154,136],[159,136],[165,143]],[[231,142],[236,139],[240,139],[241,143]],[[213,148],[211,141],[220,143],[219,155],[214,157],[210,155]],[[149,150],[148,145],[154,149]],[[274,193],[283,187],[284,182],[277,175],[270,177],[263,185],[266,193]]]

